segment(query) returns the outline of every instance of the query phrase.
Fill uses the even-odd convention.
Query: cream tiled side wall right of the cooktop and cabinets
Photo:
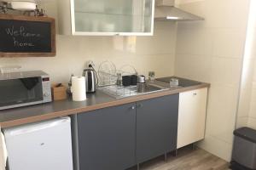
[[[201,148],[230,161],[249,0],[180,0],[205,21],[179,23],[175,74],[210,82]]]

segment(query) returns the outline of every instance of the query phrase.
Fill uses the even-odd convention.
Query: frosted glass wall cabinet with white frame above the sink
[[[72,0],[75,35],[151,35],[154,0]]]

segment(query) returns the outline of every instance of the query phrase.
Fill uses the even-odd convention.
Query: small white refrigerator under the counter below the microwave
[[[9,170],[73,170],[69,117],[10,127],[3,133]]]

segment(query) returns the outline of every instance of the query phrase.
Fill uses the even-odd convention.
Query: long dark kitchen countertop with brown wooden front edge
[[[169,87],[166,82],[155,81],[157,85]],[[124,105],[144,99],[153,99],[170,94],[178,94],[198,88],[209,88],[210,84],[201,82],[195,86],[170,88],[165,91],[152,94],[142,94],[124,99],[115,99],[101,91],[96,94],[87,94],[87,99],[82,102],[74,102],[72,99],[54,101],[43,105],[32,105],[11,110],[0,111],[0,127],[14,127],[30,122],[49,120],[59,116],[69,116],[86,111],[94,111],[115,105]]]

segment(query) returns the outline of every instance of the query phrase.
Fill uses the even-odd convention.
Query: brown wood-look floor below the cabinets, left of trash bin
[[[140,170],[228,170],[229,163],[205,150],[190,147],[178,150],[177,156],[160,156],[140,165]]]

